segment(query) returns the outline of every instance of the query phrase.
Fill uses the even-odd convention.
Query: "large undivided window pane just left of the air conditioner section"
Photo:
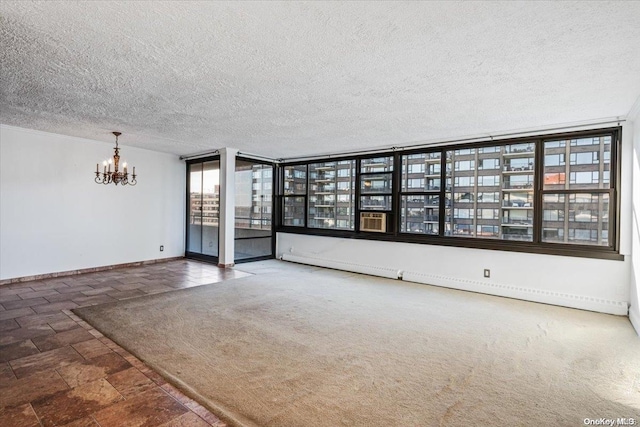
[[[309,165],[309,227],[353,230],[355,160]]]

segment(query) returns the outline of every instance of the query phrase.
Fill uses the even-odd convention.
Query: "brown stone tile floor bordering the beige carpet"
[[[224,426],[71,309],[248,275],[177,260],[0,286],[0,426]]]

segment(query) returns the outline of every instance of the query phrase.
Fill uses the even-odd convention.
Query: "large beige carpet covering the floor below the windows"
[[[640,420],[640,339],[624,317],[260,265],[75,312],[232,424]]]

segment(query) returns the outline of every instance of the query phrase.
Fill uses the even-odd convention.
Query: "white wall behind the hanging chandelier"
[[[138,184],[95,184],[113,147],[0,125],[0,279],[184,254],[184,162],[121,145]]]

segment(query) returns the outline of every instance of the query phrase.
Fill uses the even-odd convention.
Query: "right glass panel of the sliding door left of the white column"
[[[202,164],[202,251],[218,256],[220,218],[220,162]]]

